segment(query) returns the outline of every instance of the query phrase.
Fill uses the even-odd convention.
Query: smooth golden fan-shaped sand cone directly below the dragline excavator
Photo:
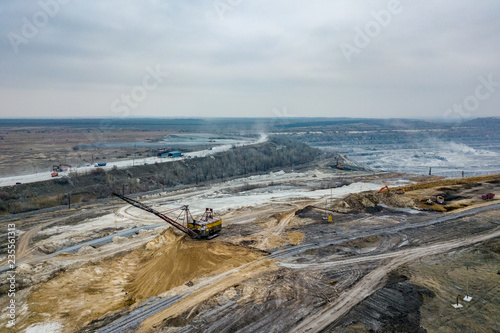
[[[229,243],[192,240],[170,228],[146,245],[127,290],[136,299],[159,295],[188,281],[215,275],[262,257],[262,253]]]

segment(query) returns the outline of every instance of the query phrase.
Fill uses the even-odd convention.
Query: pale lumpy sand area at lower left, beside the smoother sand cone
[[[19,329],[53,321],[60,323],[64,332],[75,332],[106,312],[133,303],[125,287],[129,272],[138,265],[134,252],[62,272],[34,287],[27,301],[29,317],[20,318]]]

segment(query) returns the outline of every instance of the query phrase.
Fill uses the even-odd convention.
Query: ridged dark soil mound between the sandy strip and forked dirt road
[[[236,285],[230,297],[219,293],[193,311],[164,320],[161,332],[288,332],[297,318],[307,316],[311,308],[326,304],[334,295],[333,286],[320,276],[285,269],[261,276],[258,282]],[[263,284],[268,287],[262,289]],[[248,287],[261,290],[250,292]]]

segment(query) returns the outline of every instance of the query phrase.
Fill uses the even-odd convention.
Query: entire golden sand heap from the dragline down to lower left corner
[[[108,311],[263,256],[231,244],[191,240],[171,229],[143,248],[62,272],[36,286],[28,297],[29,318],[20,320],[20,328],[51,320],[73,332]]]

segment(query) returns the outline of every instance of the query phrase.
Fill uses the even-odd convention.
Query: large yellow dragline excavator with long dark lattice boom
[[[123,196],[115,192],[113,192],[113,195],[131,204],[134,207],[145,210],[146,212],[149,212],[151,214],[155,214],[164,221],[170,223],[173,227],[188,234],[193,239],[212,239],[217,237],[219,235],[219,232],[222,230],[222,219],[214,217],[214,210],[212,208],[206,208],[205,213],[198,220],[195,220],[193,218],[187,205],[169,210],[168,212],[173,212],[174,210],[181,210],[181,213],[179,214],[177,219],[179,219],[179,217],[183,215],[183,220],[187,224],[187,226],[184,226],[182,223],[177,222],[176,220],[165,215],[164,213],[160,213],[159,211],[137,200],[128,198],[126,196]]]

